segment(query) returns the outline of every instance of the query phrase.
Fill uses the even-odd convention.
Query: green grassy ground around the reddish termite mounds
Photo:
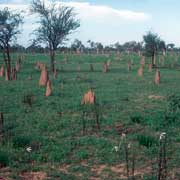
[[[13,62],[16,59],[15,54]],[[103,73],[103,62],[108,60],[109,72]],[[134,63],[130,72],[129,60]],[[58,77],[50,75],[50,97],[38,86],[36,61],[49,69],[48,56],[28,54],[17,81],[0,78],[0,112],[4,114],[0,177],[117,180],[127,179],[128,174],[129,179],[153,180],[165,152],[167,179],[180,179],[180,59],[176,62],[174,54],[166,56],[164,65],[157,58],[160,85],[154,83],[156,69],[148,72],[147,58],[143,77],[138,76],[137,55],[57,55]],[[89,70],[90,63],[94,72]],[[89,88],[95,92],[96,107],[81,105]],[[83,134],[84,111],[87,128]],[[100,130],[94,127],[95,111]],[[166,142],[159,140],[162,132]]]

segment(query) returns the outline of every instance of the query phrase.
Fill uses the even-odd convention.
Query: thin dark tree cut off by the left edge
[[[8,8],[0,10],[0,46],[3,49],[9,79],[11,76],[10,43],[16,40],[20,33],[19,26],[21,23],[23,23],[23,17],[20,13],[13,13]]]

